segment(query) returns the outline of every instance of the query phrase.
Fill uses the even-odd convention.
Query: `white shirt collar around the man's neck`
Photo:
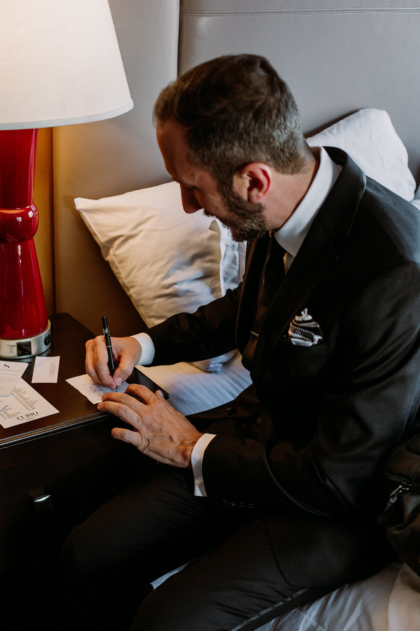
[[[336,165],[321,147],[320,164],[304,199],[300,202],[288,220],[275,233],[276,241],[289,254],[296,256],[309,232],[317,212],[336,183],[341,167]]]

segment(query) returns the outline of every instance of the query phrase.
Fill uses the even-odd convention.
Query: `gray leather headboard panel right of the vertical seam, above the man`
[[[310,132],[362,107],[387,110],[420,179],[420,2],[181,0],[178,71],[264,55]]]

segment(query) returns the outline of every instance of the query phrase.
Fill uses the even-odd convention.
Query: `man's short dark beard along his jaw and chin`
[[[224,191],[223,197],[225,207],[231,213],[226,225],[230,228],[234,241],[251,241],[264,237],[268,228],[263,215],[263,204],[242,199],[233,191]],[[203,213],[207,217],[213,216],[205,210]]]

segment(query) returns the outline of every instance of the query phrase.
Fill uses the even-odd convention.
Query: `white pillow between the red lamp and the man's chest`
[[[220,237],[177,182],[74,203],[147,326],[220,297]]]

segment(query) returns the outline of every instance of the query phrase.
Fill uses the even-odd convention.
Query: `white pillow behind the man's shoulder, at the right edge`
[[[407,150],[384,110],[359,110],[307,138],[307,143],[343,149],[368,177],[407,201],[414,198],[416,181]]]

